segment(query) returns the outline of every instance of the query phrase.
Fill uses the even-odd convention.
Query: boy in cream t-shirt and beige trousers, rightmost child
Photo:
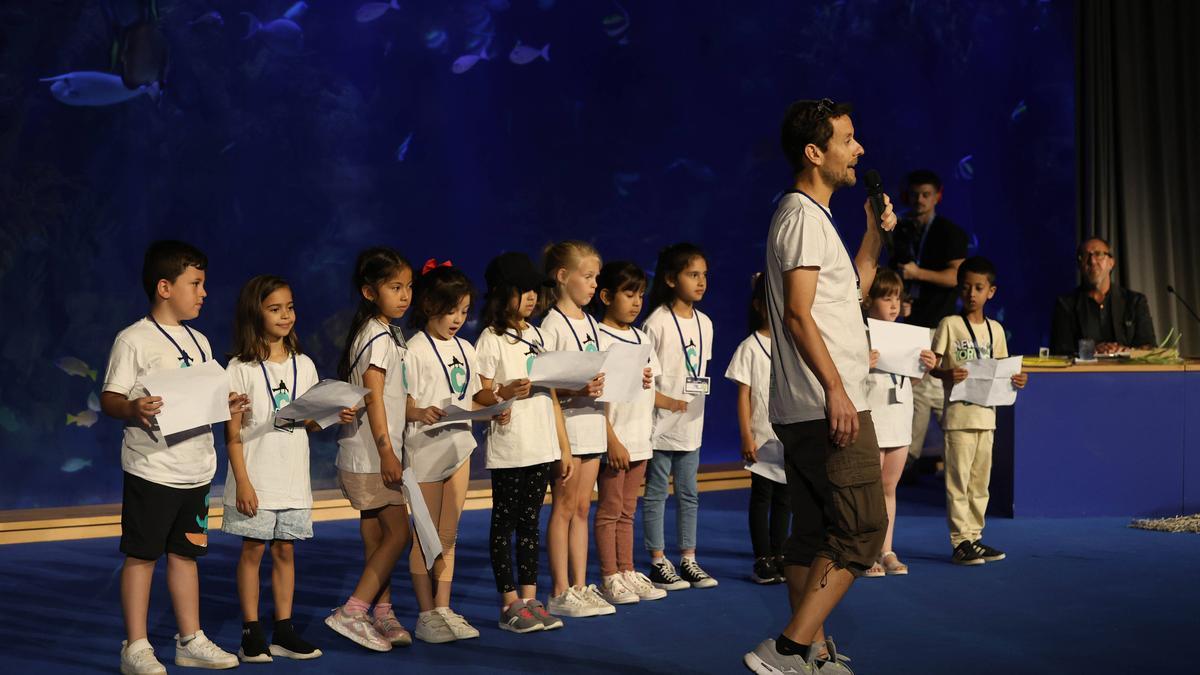
[[[1008,357],[1004,328],[984,316],[984,305],[996,295],[996,267],[982,256],[959,265],[962,313],[943,318],[934,331],[940,359],[934,375],[946,382],[946,520],[950,528],[950,556],[955,565],[983,565],[1004,560],[1003,551],[983,543],[988,485],[991,482],[991,446],[996,411],[966,401],[950,402],[953,384],[967,378],[964,366],[976,359]],[[1028,376],[1013,376],[1022,389]]]

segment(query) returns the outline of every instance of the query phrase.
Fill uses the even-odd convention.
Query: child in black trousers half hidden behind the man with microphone
[[[750,294],[750,336],[738,345],[725,377],[738,384],[738,430],[742,458],[755,465],[750,473],[750,545],[756,584],[784,581],[784,540],[792,522],[787,480],[784,478],[784,446],[767,417],[770,394],[770,327],[767,325],[767,292],[762,274],[754,277]],[[769,477],[767,474],[770,474]]]

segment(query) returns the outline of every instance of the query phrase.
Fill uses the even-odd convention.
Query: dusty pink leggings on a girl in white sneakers
[[[604,577],[634,569],[634,514],[643,478],[646,460],[631,462],[629,471],[616,471],[607,462],[600,470],[595,539]]]

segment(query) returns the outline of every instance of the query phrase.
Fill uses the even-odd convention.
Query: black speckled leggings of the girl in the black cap
[[[512,579],[512,534],[517,537],[516,584],[538,584],[541,503],[553,462],[492,470],[492,574],[496,590],[516,591]]]

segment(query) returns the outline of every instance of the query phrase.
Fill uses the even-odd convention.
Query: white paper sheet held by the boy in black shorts
[[[229,422],[229,374],[217,362],[157,370],[142,384],[151,396],[162,398],[155,422],[163,436]]]

